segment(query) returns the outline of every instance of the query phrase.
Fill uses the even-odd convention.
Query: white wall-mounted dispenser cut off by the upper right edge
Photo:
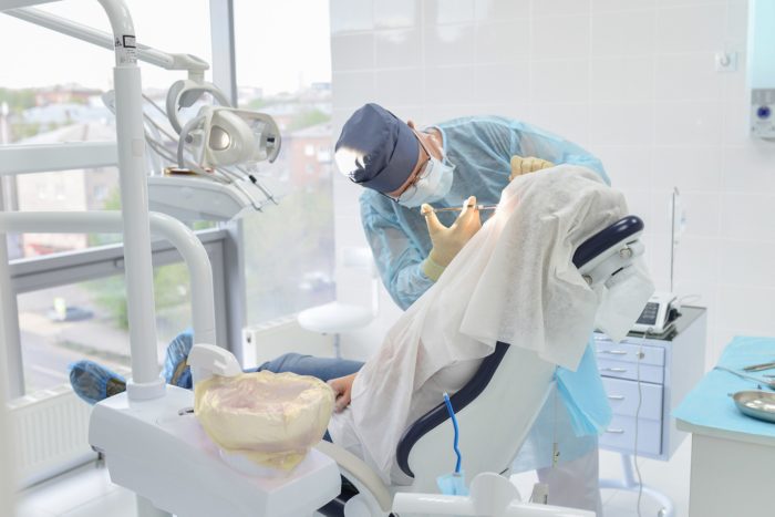
[[[751,0],[748,11],[751,134],[775,141],[775,0]]]

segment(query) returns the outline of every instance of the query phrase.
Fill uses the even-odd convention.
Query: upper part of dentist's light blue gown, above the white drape
[[[455,165],[454,179],[437,208],[461,206],[468,196],[495,205],[508,185],[512,156],[535,156],[555,164],[583,165],[609,183],[598,158],[578,145],[523,122],[499,116],[455,118],[433,126],[441,131],[444,152]],[[483,211],[482,220],[492,213]],[[456,213],[438,214],[446,226]],[[420,298],[433,280],[421,265],[431,252],[425,218],[420,208],[406,208],[370,189],[361,195],[361,219],[382,281],[402,309]]]

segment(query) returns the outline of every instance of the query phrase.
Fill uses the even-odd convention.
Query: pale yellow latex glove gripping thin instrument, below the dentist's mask
[[[468,208],[473,205],[473,208]],[[421,214],[425,216],[427,232],[431,236],[433,248],[423,262],[423,272],[433,281],[438,280],[444,268],[446,268],[457,252],[468,242],[468,240],[482,228],[479,209],[476,208],[476,197],[471,196],[463,204],[463,210],[457,216],[451,227],[442,223],[433,213],[431,205],[423,205]]]

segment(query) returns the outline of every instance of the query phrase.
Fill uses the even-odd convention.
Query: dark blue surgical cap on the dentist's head
[[[337,166],[353,182],[389,193],[406,182],[420,144],[412,130],[378,104],[366,104],[344,123],[337,141]]]

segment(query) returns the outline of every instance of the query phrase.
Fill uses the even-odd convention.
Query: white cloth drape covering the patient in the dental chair
[[[583,167],[561,165],[515,179],[496,215],[359,372],[350,409],[329,424],[333,441],[383,480],[405,480],[395,448],[406,426],[437,405],[444,391],[458,391],[497,341],[575,370],[603,291],[587,286],[572,255],[626,215],[623,196]],[[634,280],[643,289],[618,308],[619,317],[631,318],[610,322],[611,333],[626,333],[621,327],[634,322],[651,293],[643,270]]]

